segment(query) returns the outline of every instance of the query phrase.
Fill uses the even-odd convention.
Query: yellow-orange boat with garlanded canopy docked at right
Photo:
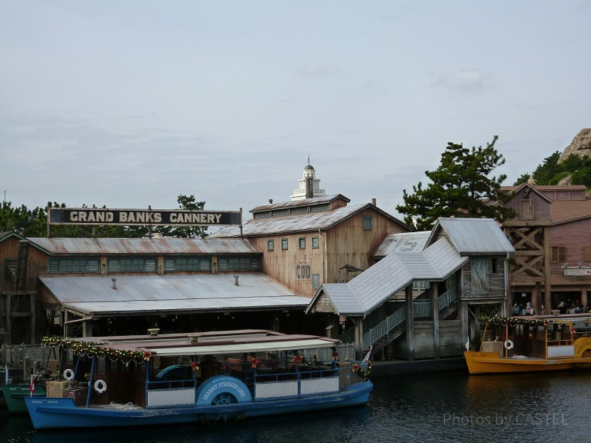
[[[589,314],[480,317],[480,350],[464,353],[470,374],[591,368]]]

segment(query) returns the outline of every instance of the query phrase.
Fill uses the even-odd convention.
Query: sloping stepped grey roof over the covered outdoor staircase
[[[446,239],[439,239],[420,252],[394,252],[349,283],[322,285],[307,311],[324,293],[337,314],[366,315],[413,280],[441,281],[467,260],[469,258],[460,256]]]

